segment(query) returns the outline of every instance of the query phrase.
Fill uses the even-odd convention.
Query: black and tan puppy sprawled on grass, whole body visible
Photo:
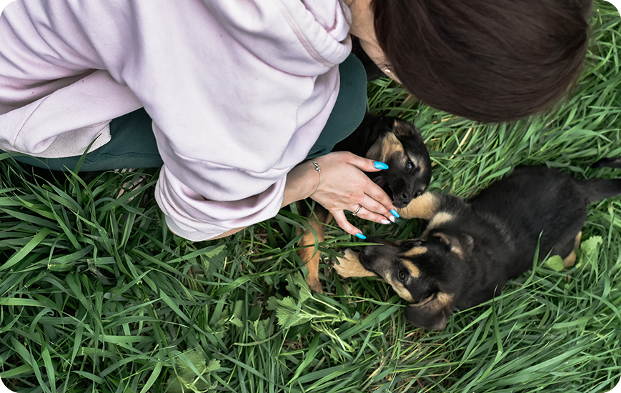
[[[603,166],[603,165],[602,165]],[[607,165],[606,165],[607,166]],[[575,262],[591,202],[621,194],[621,179],[577,180],[557,169],[519,166],[470,202],[423,194],[402,209],[404,218],[428,219],[422,237],[347,250],[334,269],[344,277],[382,277],[410,304],[417,327],[444,329],[453,309],[467,309],[499,294],[510,277],[540,259]]]

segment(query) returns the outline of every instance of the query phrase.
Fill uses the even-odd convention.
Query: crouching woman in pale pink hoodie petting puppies
[[[163,161],[157,202],[172,232],[193,241],[309,196],[364,238],[344,211],[384,224],[396,211],[363,173],[382,163],[329,153],[365,109],[350,35],[427,104],[505,121],[550,106],[575,81],[588,9],[567,0],[17,0],[0,16],[0,149],[52,168],[91,142],[83,169]],[[142,133],[131,126],[140,108],[152,119]],[[153,154],[141,146],[151,131]]]

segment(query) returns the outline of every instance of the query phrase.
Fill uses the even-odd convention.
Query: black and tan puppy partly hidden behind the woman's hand
[[[369,172],[367,176],[382,187],[397,208],[406,207],[422,194],[431,180],[431,161],[422,136],[412,124],[396,117],[379,118],[367,114],[362,124],[334,146],[333,151],[351,151],[388,164],[388,169]],[[309,271],[309,287],[315,292],[322,292],[319,282],[321,254],[314,246],[324,241],[323,224],[332,220],[332,214],[319,204],[315,204],[314,212],[309,212],[308,204],[303,201],[297,205],[299,213],[309,217],[313,229],[304,232],[298,254]]]

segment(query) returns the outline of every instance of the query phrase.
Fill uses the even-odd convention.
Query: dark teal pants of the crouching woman
[[[341,86],[332,114],[307,159],[328,154],[342,139],[356,129],[367,110],[367,75],[364,66],[353,54],[339,64]],[[151,128],[151,118],[138,109],[110,122],[111,140],[86,154],[80,171],[103,171],[121,168],[151,168],[162,166],[157,143]],[[17,161],[57,171],[74,169],[81,156],[42,159],[15,156]]]

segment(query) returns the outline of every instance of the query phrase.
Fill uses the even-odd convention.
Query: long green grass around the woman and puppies
[[[620,22],[597,3],[580,84],[542,116],[478,124],[417,104],[386,80],[369,85],[372,109],[422,129],[433,191],[469,197],[517,164],[621,176],[589,168],[621,156]],[[139,176],[147,186],[117,199]],[[402,302],[374,279],[339,279],[326,266],[327,294],[309,292],[294,209],[229,239],[187,242],[162,225],[155,179],[154,170],[50,176],[0,156],[7,389],[601,393],[620,382],[618,198],[590,207],[577,267],[538,264],[481,309],[427,332],[407,324]],[[415,220],[357,223],[390,239],[421,229]],[[322,249],[361,244],[329,227]]]

